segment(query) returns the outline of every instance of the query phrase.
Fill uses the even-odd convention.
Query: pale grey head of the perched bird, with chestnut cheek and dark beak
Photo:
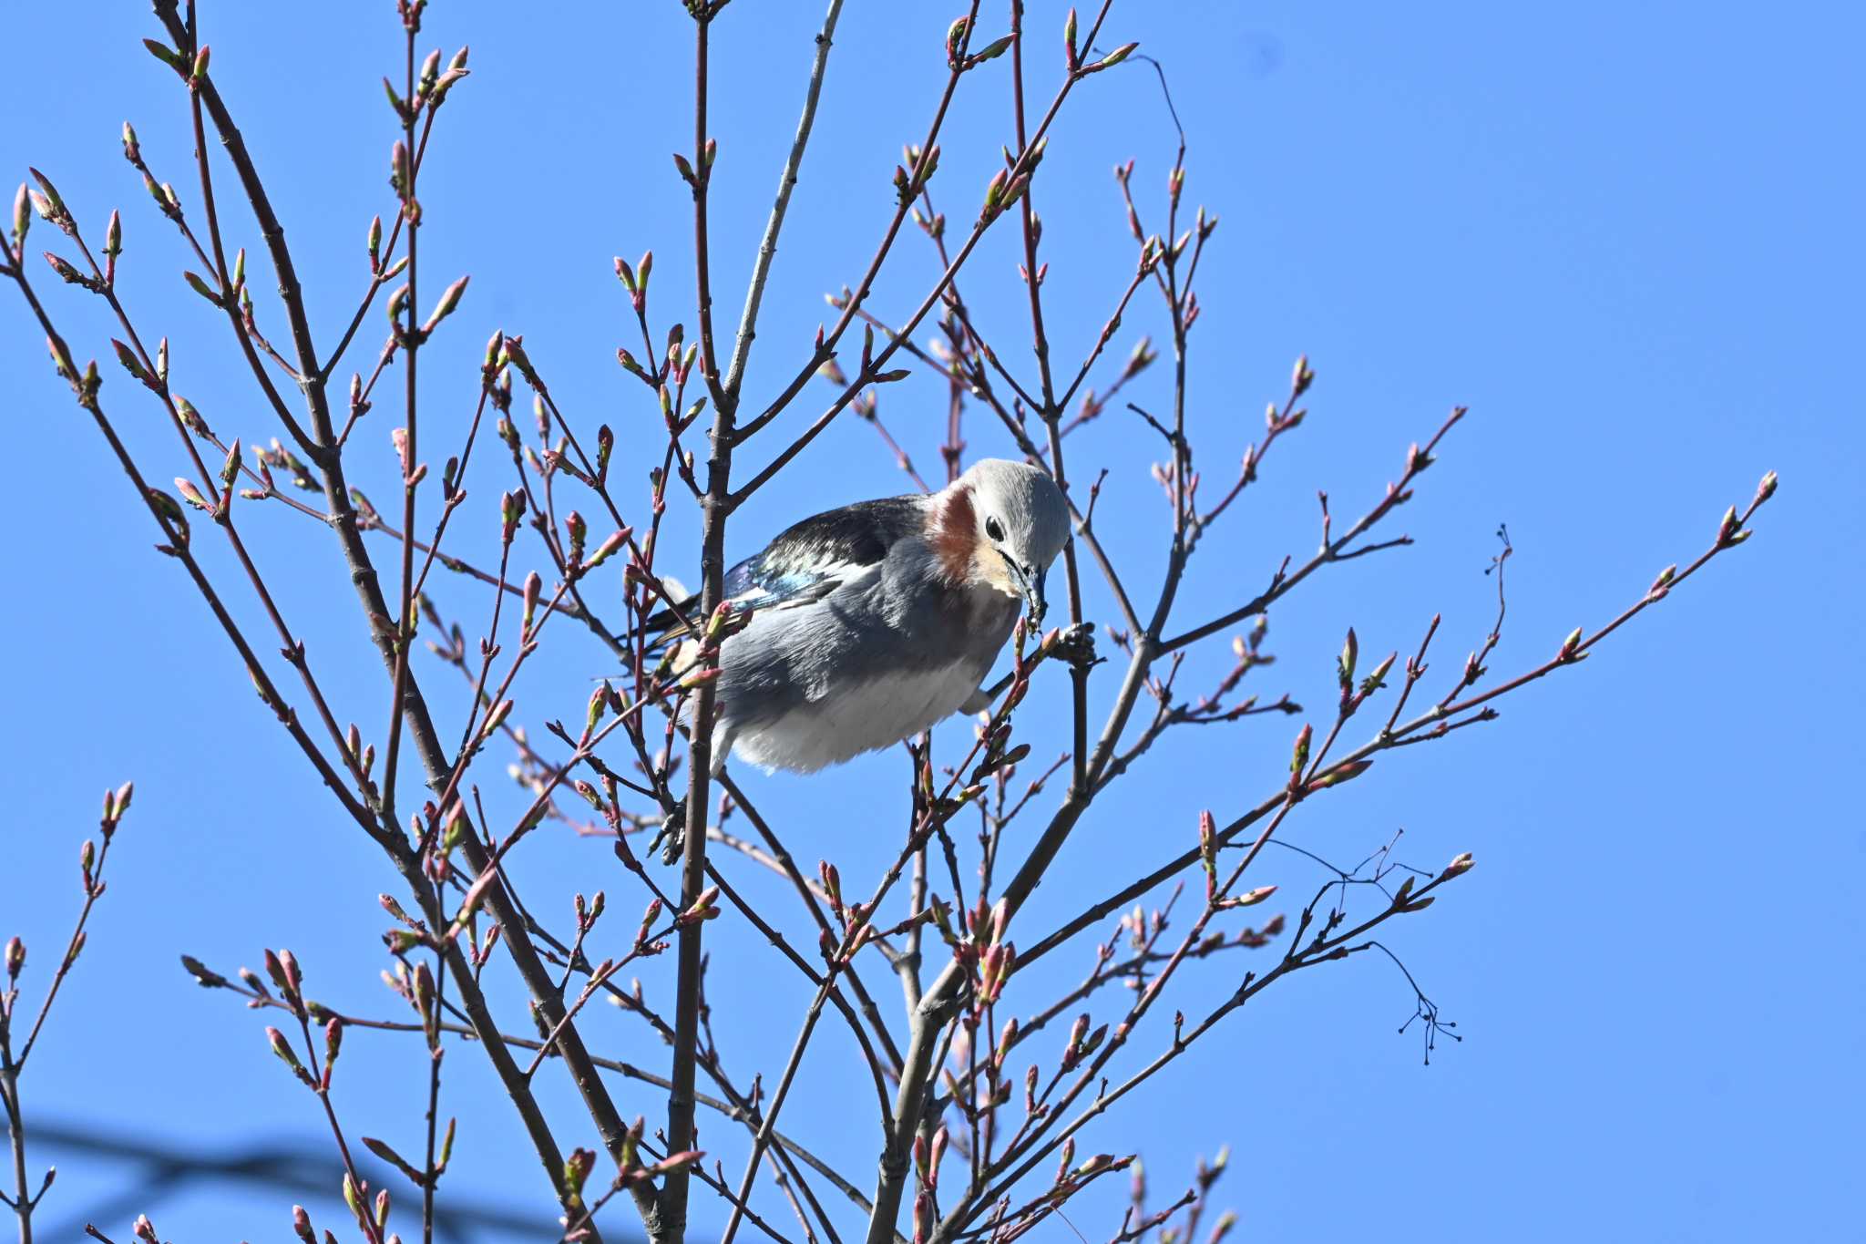
[[[1036,466],[982,459],[946,492],[946,532],[954,545],[968,545],[965,578],[1023,599],[1041,621],[1043,576],[1069,543],[1062,491]]]

